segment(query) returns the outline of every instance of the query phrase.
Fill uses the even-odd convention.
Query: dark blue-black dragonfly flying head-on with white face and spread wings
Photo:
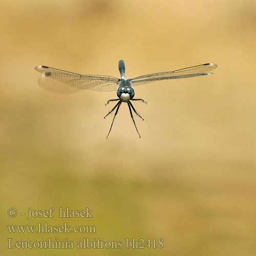
[[[211,75],[209,71],[216,69],[218,66],[214,63],[205,63],[202,65],[197,65],[189,68],[178,69],[175,71],[166,71],[160,73],[154,73],[149,75],[138,76],[135,78],[125,78],[125,66],[124,61],[120,60],[118,63],[118,69],[121,75],[121,78],[116,78],[113,76],[105,75],[80,75],[77,73],[63,71],[60,69],[50,68],[47,66],[38,66],[35,67],[35,70],[40,72],[41,75],[38,78],[38,84],[44,89],[60,92],[60,93],[73,93],[80,90],[94,90],[101,92],[111,92],[116,91],[117,99],[110,99],[106,102],[105,105],[109,104],[111,101],[118,101],[112,110],[104,116],[106,118],[113,111],[115,111],[110,130],[106,138],[108,139],[112,126],[120,105],[122,102],[127,103],[131,118],[133,120],[135,129],[141,138],[139,131],[137,129],[133,112],[144,120],[139,113],[135,110],[132,101],[141,101],[146,103],[143,99],[135,99],[135,86],[140,86],[141,84],[156,82],[160,80],[169,80],[169,79],[179,79],[186,77],[196,77]]]

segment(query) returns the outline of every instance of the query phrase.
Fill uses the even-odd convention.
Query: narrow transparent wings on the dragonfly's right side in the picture
[[[178,69],[175,71],[166,71],[160,73],[154,73],[150,75],[138,76],[131,79],[134,86],[139,86],[140,84],[154,82],[158,80],[167,80],[167,79],[178,79],[194,76],[204,76],[210,75],[208,73],[210,70],[216,69],[218,66],[212,63],[206,63],[198,66],[193,66],[185,69]]]

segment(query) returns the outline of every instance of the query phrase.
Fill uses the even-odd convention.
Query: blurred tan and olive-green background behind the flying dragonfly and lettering
[[[3,255],[256,253],[255,1],[2,1]],[[59,95],[35,66],[126,77],[218,64],[214,75],[136,87],[138,139],[116,92]],[[93,219],[9,218],[50,207]],[[55,215],[57,211],[55,210]],[[95,225],[96,234],[10,234],[7,225]],[[164,239],[162,249],[8,249],[47,238]]]

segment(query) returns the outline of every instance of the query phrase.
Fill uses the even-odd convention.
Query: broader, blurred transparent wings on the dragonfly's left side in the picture
[[[46,66],[35,67],[41,73],[38,78],[39,86],[44,89],[72,93],[79,90],[94,90],[110,92],[117,90],[118,78],[101,75],[80,75]]]

